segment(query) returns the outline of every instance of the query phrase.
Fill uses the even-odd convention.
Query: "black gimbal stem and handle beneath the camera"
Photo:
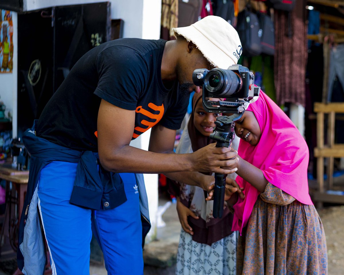
[[[234,140],[234,121],[241,118],[243,113],[233,114],[230,117],[222,115],[216,118],[215,129],[209,136],[212,140],[217,141],[216,147],[229,147]],[[214,187],[214,205],[213,217],[222,218],[223,207],[225,202],[225,188],[226,188],[227,174],[215,173],[215,187]]]

